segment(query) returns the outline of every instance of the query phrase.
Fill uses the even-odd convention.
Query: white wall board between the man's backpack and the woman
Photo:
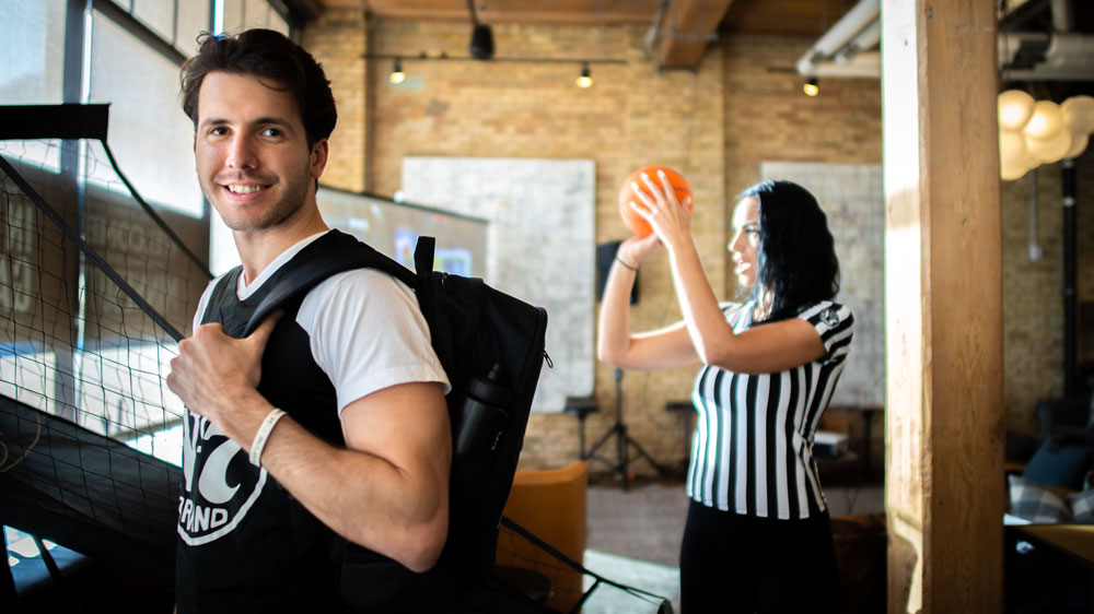
[[[591,160],[406,157],[407,200],[486,219],[486,281],[547,309],[534,411],[593,392],[595,181]]]

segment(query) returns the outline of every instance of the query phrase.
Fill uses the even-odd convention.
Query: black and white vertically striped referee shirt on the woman
[[[752,326],[753,303],[725,304],[734,332]],[[851,349],[854,318],[824,300],[799,318],[821,334],[825,355],[781,373],[746,375],[703,365],[691,401],[699,413],[691,439],[687,494],[708,507],[764,518],[808,518],[824,510],[813,435],[828,409]]]

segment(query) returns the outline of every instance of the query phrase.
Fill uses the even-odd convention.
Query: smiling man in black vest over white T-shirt
[[[183,108],[243,265],[209,285],[167,377],[187,406],[178,612],[434,611],[451,589],[427,572],[447,531],[449,382],[414,293],[340,273],[236,339],[322,249],[329,82],[276,32],[200,43]]]

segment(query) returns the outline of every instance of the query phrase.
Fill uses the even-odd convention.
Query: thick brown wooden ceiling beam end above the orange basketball
[[[661,68],[695,68],[733,0],[675,0],[661,24]],[[675,12],[673,11],[675,9]]]

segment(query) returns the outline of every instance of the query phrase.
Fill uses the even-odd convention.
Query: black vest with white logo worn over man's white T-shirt
[[[357,239],[337,232],[316,239],[245,300],[236,296],[241,269],[234,269],[213,288],[202,323],[219,322],[232,336],[242,336],[278,282],[335,241]],[[302,299],[282,306],[284,316],[263,355],[258,391],[315,436],[342,447],[334,385],[315,364],[309,335],[296,323]],[[187,479],[179,504],[181,614],[432,612],[452,594],[451,580],[441,572],[414,574],[339,538],[251,464],[242,448],[211,433],[208,421],[189,412],[185,420],[184,456],[195,460],[184,460]],[[232,497],[222,500],[229,493]],[[224,531],[232,523],[231,531]]]

